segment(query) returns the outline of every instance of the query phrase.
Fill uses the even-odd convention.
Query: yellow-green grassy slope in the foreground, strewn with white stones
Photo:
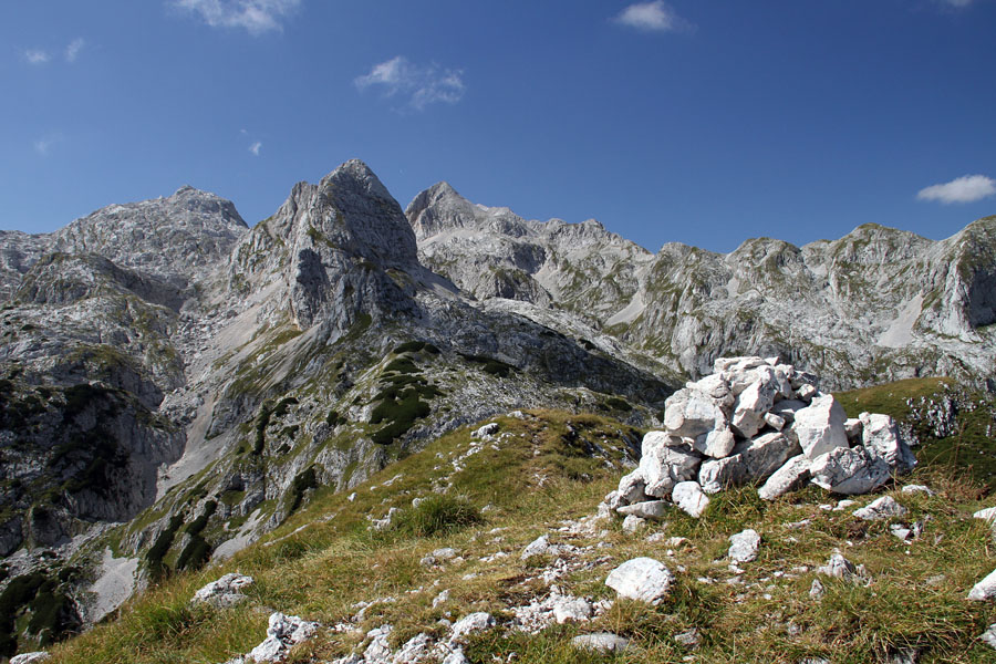
[[[594,416],[536,415],[498,418],[505,436],[499,449],[485,446],[460,461],[463,470],[454,473],[453,460],[467,450],[470,428],[388,467],[357,487],[354,501],[319,489],[267,541],[224,566],[168,579],[125,606],[116,621],[54,647],[54,662],[224,662],[263,639],[271,610],[333,624],[355,615],[354,603],[388,595],[396,601],[369,609],[357,626],[365,632],[391,623],[395,644],[422,631],[442,636],[439,619],[456,620],[470,611],[490,611],[501,622],[510,616],[510,606],[548,592],[536,577],[553,560],[523,562],[519,552],[551,531],[553,541],[591,547],[580,553],[589,569],[558,581],[564,592],[614,599],[603,584],[605,575],[635,556],[664,561],[677,572],[677,587],[657,608],[620,601],[591,623],[553,626],[535,636],[494,630],[469,644],[471,661],[491,662],[494,655],[505,661],[512,652],[521,662],[604,661],[569,645],[574,634],[600,630],[627,635],[639,645],[618,656],[625,662],[688,655],[696,662],[798,662],[811,655],[836,663],[881,662],[905,646],[925,649],[921,662],[992,661],[992,650],[976,636],[996,614],[965,595],[996,567],[987,527],[971,518],[993,500],[985,487],[959,474],[959,459],[921,450],[921,458],[933,460],[900,485],[927,484],[937,495],[892,491],[911,509],[906,521],[930,519],[911,544],[890,535],[888,523],[868,525],[849,510],[820,509],[832,500],[815,487],[772,505],[762,504],[749,487],[729,491],[715,497],[701,520],[675,510],[666,526],[637,536],[624,535],[618,522],[605,525],[608,532],[598,536],[570,535],[557,528],[564,519],[592,513],[618,483],[624,458],[620,433],[626,427]],[[589,456],[593,445],[605,450],[604,458]],[[367,517],[381,517],[391,506],[408,508],[413,498],[447,483],[449,496],[464,497],[477,510],[490,506],[480,512],[483,522],[433,537],[366,529]],[[787,526],[803,520],[809,522],[801,528]],[[741,566],[738,583],[729,583],[738,574],[724,559],[727,538],[747,527],[761,533],[760,557]],[[660,531],[686,537],[688,543],[668,550],[646,541],[644,536]],[[600,541],[609,547],[595,548]],[[419,564],[439,547],[454,547],[464,560],[436,568]],[[852,585],[823,577],[826,595],[813,601],[808,594],[812,570],[834,548],[864,564],[873,581]],[[509,556],[481,560],[497,551]],[[257,579],[247,591],[250,602],[226,611],[189,606],[197,588],[236,570]],[[465,579],[467,574],[476,575]],[[450,589],[452,598],[434,609],[432,600],[442,589]],[[691,626],[703,637],[695,651],[673,639]],[[359,632],[328,634],[300,646],[291,661],[331,660],[361,640]]]

